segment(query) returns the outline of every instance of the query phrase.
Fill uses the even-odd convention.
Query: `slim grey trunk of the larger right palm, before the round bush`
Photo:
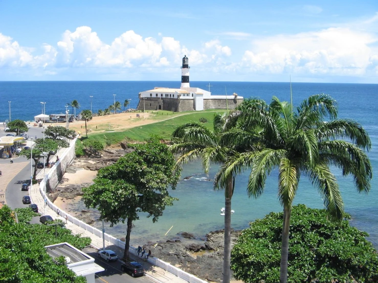
[[[280,263],[280,283],[287,282],[287,261],[289,246],[290,217],[292,214],[291,206],[284,206],[282,221],[282,246],[281,246],[281,263]]]

